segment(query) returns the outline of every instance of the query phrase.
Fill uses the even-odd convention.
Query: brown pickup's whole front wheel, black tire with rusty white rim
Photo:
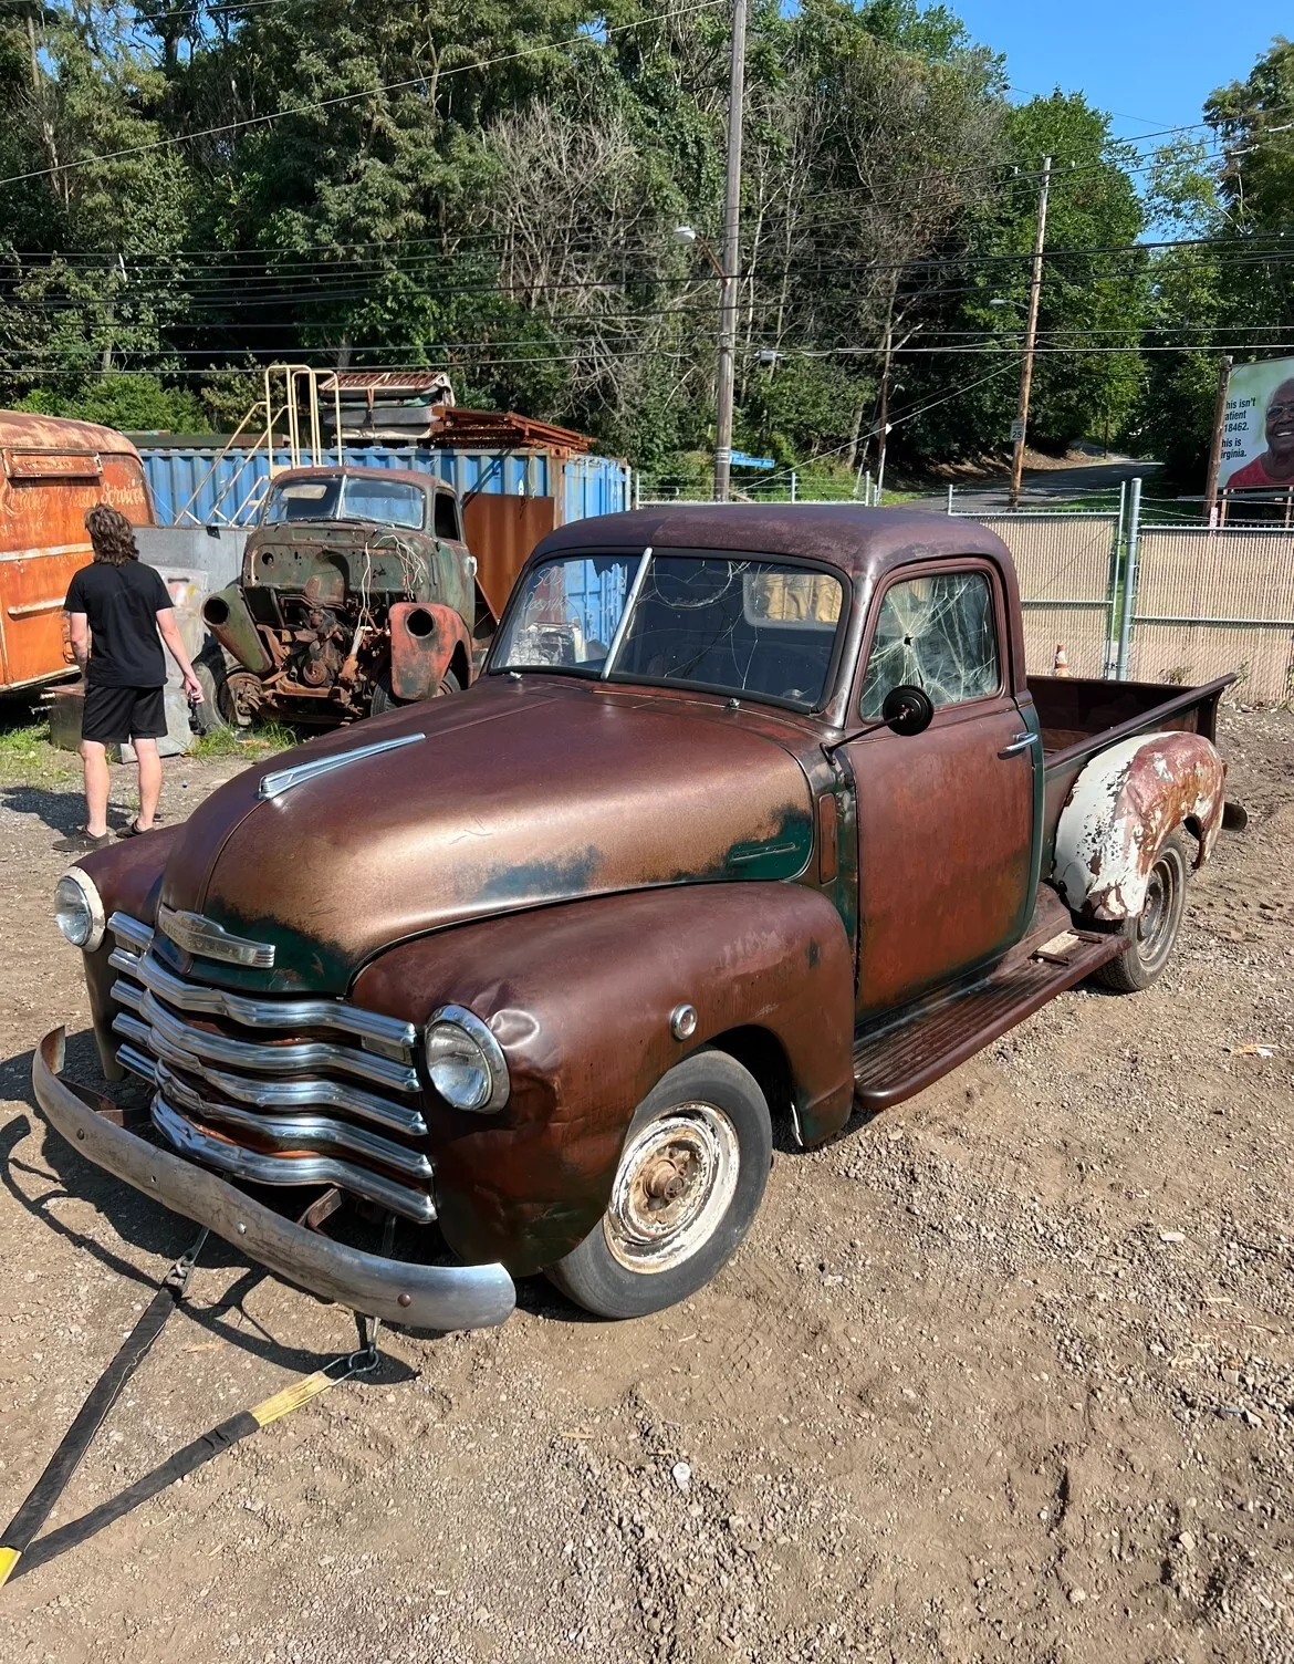
[[[684,1058],[634,1113],[607,1211],[544,1275],[599,1318],[687,1300],[750,1230],[772,1160],[768,1103],[750,1070],[725,1052]]]

